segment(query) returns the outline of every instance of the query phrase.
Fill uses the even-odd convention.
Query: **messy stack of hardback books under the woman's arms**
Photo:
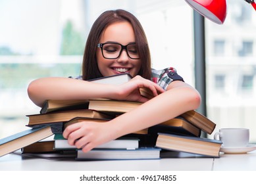
[[[121,74],[91,82],[120,84],[130,79],[129,74]],[[152,97],[147,89],[140,91],[141,95]],[[216,124],[195,110],[124,135],[86,153],[68,145],[62,136],[70,124],[86,121],[105,123],[140,104],[110,99],[45,101],[39,114],[27,115],[30,129],[0,140],[0,156],[21,149],[23,154],[59,154],[72,150],[78,160],[156,159],[161,158],[161,152],[166,153],[166,150],[218,157],[220,141],[200,137],[201,131],[211,134]],[[54,139],[43,141],[49,136]]]

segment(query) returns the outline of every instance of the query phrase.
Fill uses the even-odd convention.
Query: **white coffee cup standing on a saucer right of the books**
[[[219,137],[222,147],[246,147],[249,143],[249,129],[247,128],[222,128],[214,135]]]

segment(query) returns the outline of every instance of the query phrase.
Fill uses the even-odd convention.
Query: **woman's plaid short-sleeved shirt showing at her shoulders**
[[[163,70],[155,70],[152,68],[151,72],[152,72],[151,81],[157,83],[165,90],[167,89],[168,85],[172,81],[176,81],[176,80],[184,81],[183,78],[177,74],[176,69],[172,67],[165,68]],[[77,76],[77,77],[71,76],[69,78],[82,80],[82,76]]]

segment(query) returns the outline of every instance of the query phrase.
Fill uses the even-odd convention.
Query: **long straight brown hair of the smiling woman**
[[[86,47],[84,50],[84,58],[82,64],[82,78],[83,80],[91,80],[94,78],[102,77],[101,72],[97,66],[96,49],[97,43],[101,33],[107,28],[107,26],[115,22],[130,22],[134,29],[136,45],[138,47],[138,53],[141,60],[141,68],[138,73],[141,77],[150,80],[151,79],[151,57],[149,48],[147,45],[147,37],[139,22],[139,20],[130,12],[121,9],[115,11],[103,12],[91,27],[90,34],[86,41]]]

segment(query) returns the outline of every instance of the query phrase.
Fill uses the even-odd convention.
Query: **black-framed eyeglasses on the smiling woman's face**
[[[136,43],[122,45],[120,43],[98,43],[97,47],[101,48],[101,53],[104,58],[115,59],[120,57],[122,50],[125,49],[128,57],[139,59]]]

